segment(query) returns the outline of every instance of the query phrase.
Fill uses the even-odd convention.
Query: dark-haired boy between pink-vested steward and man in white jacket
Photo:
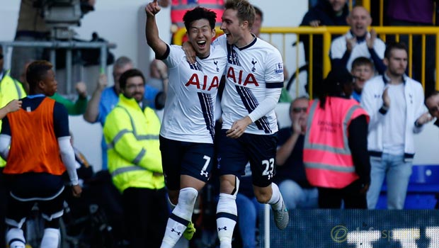
[[[353,60],[350,74],[353,75],[354,79],[352,98],[355,101],[360,102],[365,83],[374,76],[374,72],[373,63],[367,57],[358,57]]]

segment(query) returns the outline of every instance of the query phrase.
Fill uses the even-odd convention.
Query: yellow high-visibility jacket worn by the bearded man
[[[119,96],[103,127],[108,169],[120,192],[126,188],[164,188],[159,149],[160,120],[152,108]]]

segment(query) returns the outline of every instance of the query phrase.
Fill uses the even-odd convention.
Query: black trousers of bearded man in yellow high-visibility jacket
[[[127,188],[122,201],[130,247],[159,248],[169,217],[166,190]]]

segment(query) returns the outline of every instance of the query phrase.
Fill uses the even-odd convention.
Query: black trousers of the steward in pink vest
[[[360,181],[354,181],[345,188],[321,188],[319,187],[319,208],[367,208],[366,194],[360,193],[362,185]]]

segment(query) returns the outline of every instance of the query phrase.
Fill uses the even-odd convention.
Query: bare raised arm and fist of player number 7
[[[148,45],[156,53],[156,57],[161,57],[165,54],[167,45],[159,37],[159,28],[157,28],[156,23],[156,13],[161,10],[157,0],[152,1],[145,7],[145,12],[147,13],[147,24],[145,27],[145,35],[147,37]]]

